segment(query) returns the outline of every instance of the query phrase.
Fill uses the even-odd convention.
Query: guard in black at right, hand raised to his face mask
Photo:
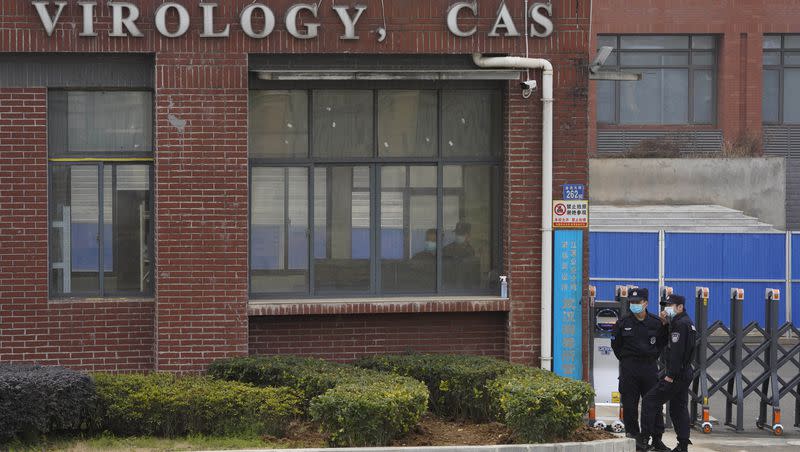
[[[692,358],[697,341],[697,330],[686,314],[686,299],[680,295],[668,296],[662,305],[669,322],[669,351],[667,352],[666,375],[658,385],[644,396],[642,401],[642,434],[636,439],[637,450],[647,446],[650,435],[659,430],[657,419],[662,406],[669,401],[669,417],[675,426],[678,446],[673,452],[689,450],[689,384],[692,382]]]

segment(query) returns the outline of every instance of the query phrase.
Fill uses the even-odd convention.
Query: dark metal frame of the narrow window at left
[[[136,91],[136,92],[148,92],[151,96],[154,96],[154,91],[152,88],[149,87],[91,87],[91,88],[69,88],[69,89],[48,89],[48,106],[49,106],[49,99],[51,92],[66,92],[66,91]],[[154,99],[153,99],[154,100]],[[69,105],[67,104],[67,109],[69,109]],[[47,121],[46,124],[50,126],[50,114],[51,110],[48,108],[47,113]],[[150,152],[129,152],[129,151],[113,151],[113,152],[62,152],[58,150],[54,150],[50,148],[50,143],[48,142],[48,164],[47,164],[47,194],[48,194],[48,208],[47,208],[47,241],[48,241],[48,256],[47,256],[47,266],[48,266],[48,298],[50,300],[70,300],[75,298],[89,298],[89,297],[100,297],[100,298],[152,298],[155,294],[155,286],[156,286],[156,244],[155,244],[155,212],[156,212],[156,197],[155,197],[155,166],[154,166],[154,154],[155,154],[155,102],[151,103],[151,122],[150,127],[152,132],[150,134],[151,140],[153,143],[151,144],[152,151]],[[104,206],[104,195],[105,195],[105,187],[104,187],[104,171],[105,166],[109,165],[112,168],[112,187],[111,187],[111,195],[112,195],[112,215],[114,215],[114,198],[113,198],[113,191],[116,187],[116,168],[120,166],[126,165],[144,165],[148,168],[148,186],[149,186],[149,203],[150,203],[150,224],[147,230],[147,237],[146,241],[150,244],[150,249],[148,253],[148,257],[150,260],[150,287],[148,290],[145,291],[106,291],[105,290],[105,233],[104,233],[104,215],[105,215],[105,206]],[[53,189],[53,168],[56,167],[71,167],[71,166],[95,166],[97,167],[98,171],[98,290],[96,292],[69,292],[69,293],[58,293],[54,291],[52,285],[52,278],[51,273],[53,270],[52,261],[50,257],[50,243],[52,240],[51,237],[51,230],[53,228],[52,225],[52,196],[51,190]],[[115,224],[115,218],[112,216],[112,227]],[[62,238],[63,239],[63,238]],[[113,240],[113,238],[112,238]],[[71,253],[70,253],[71,254]]]

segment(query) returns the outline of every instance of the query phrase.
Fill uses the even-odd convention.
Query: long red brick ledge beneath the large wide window
[[[507,312],[508,299],[498,297],[392,297],[339,298],[311,300],[250,300],[247,314],[340,315],[340,314],[414,314],[435,312]]]

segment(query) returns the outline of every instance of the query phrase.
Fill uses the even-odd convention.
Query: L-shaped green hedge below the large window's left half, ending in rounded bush
[[[304,396],[312,421],[336,446],[380,446],[419,422],[425,385],[411,378],[295,356],[243,357],[212,363],[209,375],[289,386]]]

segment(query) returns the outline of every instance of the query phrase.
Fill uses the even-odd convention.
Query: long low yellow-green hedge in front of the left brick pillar
[[[95,424],[119,435],[281,435],[300,414],[289,388],[171,374],[94,375]]]

